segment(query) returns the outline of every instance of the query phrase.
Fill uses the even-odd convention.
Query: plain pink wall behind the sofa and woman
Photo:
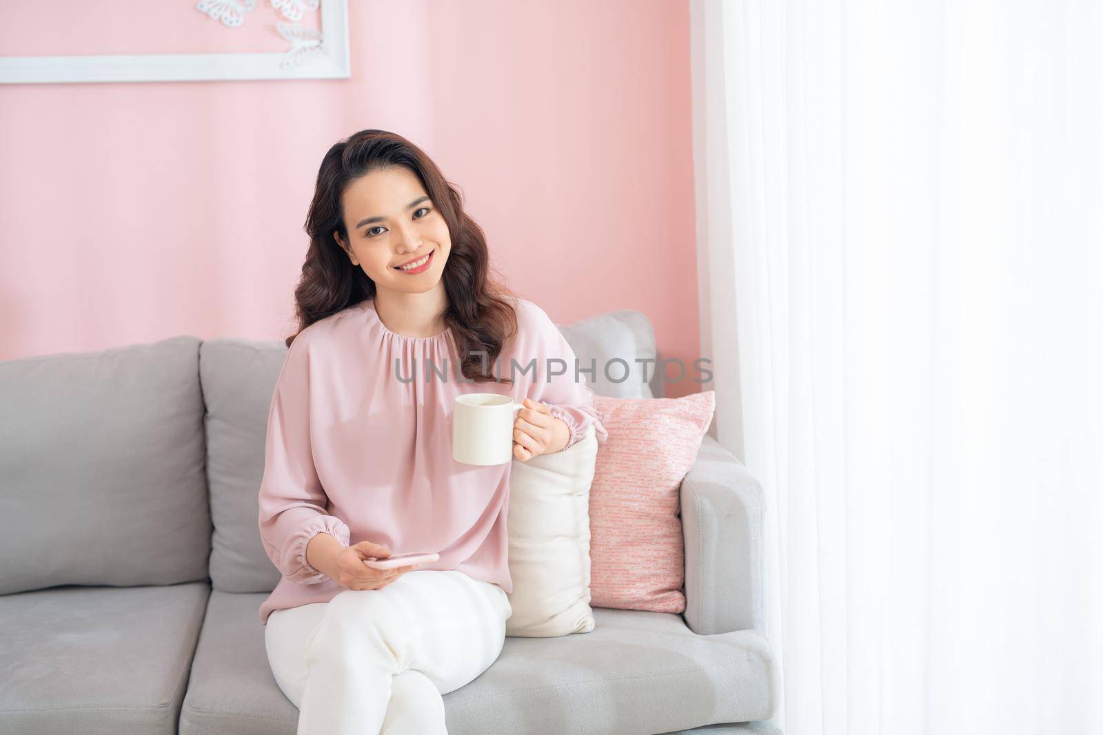
[[[68,4],[64,26],[8,8],[0,55],[280,50],[263,1],[237,30],[190,2]],[[460,185],[495,266],[554,321],[639,309],[692,364],[687,3],[350,6],[346,80],[0,86],[0,359],[282,337],[321,156],[384,128]]]

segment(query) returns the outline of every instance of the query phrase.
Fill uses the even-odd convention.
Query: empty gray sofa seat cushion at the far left
[[[211,586],[0,596],[0,732],[175,733]]]

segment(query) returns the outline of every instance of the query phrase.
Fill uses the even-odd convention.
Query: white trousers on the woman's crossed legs
[[[510,598],[459,570],[415,570],[382,590],[272,610],[265,646],[299,707],[298,735],[445,733],[442,694],[490,668]]]

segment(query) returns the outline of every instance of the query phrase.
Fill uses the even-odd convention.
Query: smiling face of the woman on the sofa
[[[375,282],[376,289],[422,293],[436,288],[445,272],[452,240],[448,223],[429,199],[421,181],[405,167],[362,176],[342,196],[349,247],[333,237]],[[429,256],[413,271],[397,267]]]

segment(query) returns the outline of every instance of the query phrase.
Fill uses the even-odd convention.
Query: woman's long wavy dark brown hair
[[[303,225],[310,247],[295,289],[299,325],[285,344],[290,347],[299,333],[314,322],[375,296],[375,282],[352,264],[333,233],[336,230],[345,242],[350,239],[341,206],[347,187],[361,176],[392,166],[405,166],[415,173],[448,223],[452,247],[441,277],[448,294],[443,320],[451,327],[459,350],[454,359],[462,375],[475,382],[513,382],[489,370],[505,341],[517,331],[517,316],[507,301],[516,294],[503,285],[496,270],[491,277],[486,238],[463,212],[457,188],[420,148],[386,130],[361,130],[334,143],[322,159]]]

